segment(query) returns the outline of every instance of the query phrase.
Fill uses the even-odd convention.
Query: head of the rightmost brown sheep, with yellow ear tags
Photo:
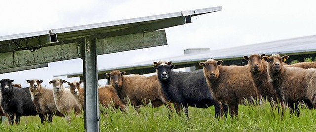
[[[272,69],[273,73],[278,73],[283,68],[283,62],[288,59],[289,56],[280,56],[278,54],[274,54],[270,57],[264,56],[263,58],[268,62],[270,69]]]

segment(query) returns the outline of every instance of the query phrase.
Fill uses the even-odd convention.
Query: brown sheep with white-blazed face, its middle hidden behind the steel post
[[[78,103],[81,105],[81,107],[84,107],[84,89],[80,86],[80,84],[83,81],[80,80],[79,82],[67,82],[67,84],[70,86],[70,92],[76,97]],[[121,102],[121,100],[118,97],[117,92],[112,87],[112,85],[106,85],[99,87],[99,102],[102,106],[108,107],[111,104],[111,101],[113,101],[113,107],[114,108],[120,108],[120,110],[124,111],[126,108],[125,105]]]

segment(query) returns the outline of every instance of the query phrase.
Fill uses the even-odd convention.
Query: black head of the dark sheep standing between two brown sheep
[[[168,81],[170,80],[170,77],[172,75],[172,69],[174,68],[174,65],[158,65],[154,66],[154,68],[157,70],[158,79],[160,81]]]

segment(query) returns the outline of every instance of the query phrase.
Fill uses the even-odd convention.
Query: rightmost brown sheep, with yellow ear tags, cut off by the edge
[[[291,113],[300,115],[299,103],[310,102],[316,108],[316,69],[303,69],[298,67],[284,66],[289,56],[263,56],[268,62],[268,81],[276,89],[276,94],[281,103],[287,104]],[[295,105],[295,106],[294,106]]]

